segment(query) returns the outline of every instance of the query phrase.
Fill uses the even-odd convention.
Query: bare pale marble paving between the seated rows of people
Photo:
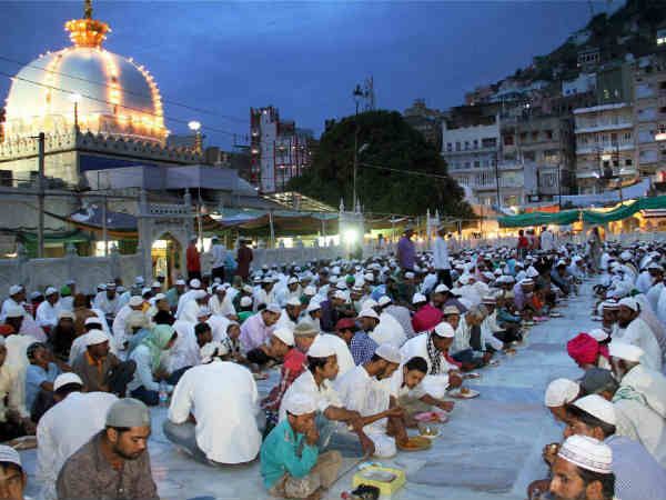
[[[544,477],[541,450],[561,437],[561,429],[543,406],[547,383],[557,377],[574,378],[579,370],[567,357],[566,340],[589,329],[589,286],[573,298],[566,317],[534,327],[517,356],[486,368],[470,387],[481,397],[456,404],[427,452],[398,453],[384,463],[407,471],[407,484],[396,500],[412,499],[524,499],[525,488]],[[215,469],[193,462],[163,437],[164,410],[154,410],[150,453],[160,496],[169,500],[208,497],[216,500],[270,498],[262,488],[259,464]],[[36,452],[23,453],[30,474]],[[345,467],[353,460],[345,460]],[[352,472],[326,498],[337,499],[351,487]],[[38,486],[29,493],[37,496]]]

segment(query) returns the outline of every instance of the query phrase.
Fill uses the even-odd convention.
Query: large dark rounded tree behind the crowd
[[[345,207],[351,208],[355,130],[354,116],[332,124],[321,138],[312,167],[302,177],[292,179],[290,189],[333,207],[342,198]],[[415,216],[438,209],[442,214],[473,217],[463,200],[463,190],[448,177],[440,152],[398,112],[359,114],[357,144],[362,152],[356,192],[366,212]]]

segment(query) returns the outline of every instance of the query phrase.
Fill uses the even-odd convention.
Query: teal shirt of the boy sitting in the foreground
[[[294,434],[289,419],[280,422],[266,437],[261,447],[261,476],[266,489],[285,473],[296,479],[310,473],[316,464],[319,449],[304,440],[304,434]]]

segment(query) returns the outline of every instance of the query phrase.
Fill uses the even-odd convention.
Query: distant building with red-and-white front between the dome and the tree
[[[276,108],[250,109],[250,179],[262,193],[280,192],[310,167],[312,132],[280,120]]]

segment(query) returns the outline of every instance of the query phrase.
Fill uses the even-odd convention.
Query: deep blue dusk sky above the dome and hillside
[[[0,57],[29,62],[69,46],[63,24],[83,1],[0,3]],[[321,133],[354,110],[352,89],[374,77],[376,103],[404,110],[415,98],[445,109],[562,43],[588,19],[587,1],[195,2],[94,1],[111,26],[104,47],[155,77],[170,118],[249,132],[249,108],[274,104]],[[601,4],[597,4],[601,9]],[[0,59],[3,72],[19,66]],[[9,79],[0,77],[0,94]],[[171,104],[178,101],[209,112]],[[230,118],[231,117],[231,118]],[[205,130],[206,127],[218,131]]]

